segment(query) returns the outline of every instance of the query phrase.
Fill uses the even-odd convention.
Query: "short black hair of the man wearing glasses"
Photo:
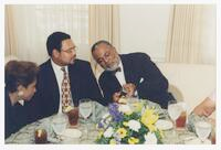
[[[62,41],[67,40],[67,39],[71,39],[71,35],[64,32],[54,32],[51,35],[49,35],[46,40],[48,54],[52,56],[52,52],[54,49],[61,52]]]

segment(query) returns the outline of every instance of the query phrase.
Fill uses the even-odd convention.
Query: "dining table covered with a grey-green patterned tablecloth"
[[[158,109],[158,113],[161,115],[161,118],[165,120],[170,120],[167,109],[162,109],[158,104],[151,103],[149,100],[148,105]],[[82,117],[78,118],[77,127],[74,127],[75,130],[81,132],[80,137],[65,139],[57,137],[55,133],[52,121],[56,115],[36,120],[35,122],[29,124],[21,128],[15,133],[12,133],[9,138],[4,140],[6,144],[35,144],[34,132],[36,129],[44,129],[48,135],[48,144],[98,144],[96,139],[98,137],[97,124],[108,113],[108,107],[105,107],[96,101],[93,101],[93,114],[90,116],[88,120],[85,121]],[[187,122],[187,127],[182,129],[168,129],[164,130],[162,144],[200,144],[200,140],[191,129],[191,121],[196,121],[194,116],[189,117],[190,120]],[[190,128],[189,128],[189,127]],[[73,129],[69,125],[66,129]],[[172,137],[172,132],[176,132],[177,137]],[[211,144],[210,140],[206,142]]]

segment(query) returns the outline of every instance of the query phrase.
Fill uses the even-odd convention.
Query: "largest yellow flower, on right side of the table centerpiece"
[[[155,131],[157,128],[155,127],[155,122],[158,120],[159,116],[155,114],[154,109],[146,109],[141,116],[141,122],[148,127],[150,131]]]

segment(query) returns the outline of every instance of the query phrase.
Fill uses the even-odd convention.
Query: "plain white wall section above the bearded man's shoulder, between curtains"
[[[120,53],[141,51],[162,62],[170,9],[170,4],[120,6]]]

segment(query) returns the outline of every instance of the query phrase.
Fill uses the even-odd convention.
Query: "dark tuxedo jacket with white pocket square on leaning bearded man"
[[[124,66],[126,83],[136,85],[138,97],[158,103],[162,108],[167,108],[168,101],[175,98],[168,93],[167,78],[150,61],[150,57],[145,53],[130,53],[119,56]],[[115,75],[108,71],[101,75],[98,82],[107,105],[112,103],[113,94],[119,92],[122,86]]]

